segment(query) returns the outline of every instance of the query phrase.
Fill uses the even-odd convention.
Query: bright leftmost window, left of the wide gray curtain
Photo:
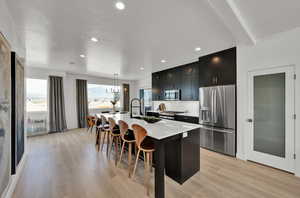
[[[47,80],[26,79],[27,135],[47,132]]]

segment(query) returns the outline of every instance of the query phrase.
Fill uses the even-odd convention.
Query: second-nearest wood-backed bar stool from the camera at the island
[[[130,177],[131,158],[132,158],[132,145],[133,146],[135,145],[134,144],[135,143],[135,138],[134,138],[133,132],[128,129],[128,124],[126,122],[124,122],[123,120],[119,120],[118,124],[119,124],[119,128],[120,128],[121,138],[123,140],[118,165],[120,165],[120,163],[121,163],[122,155],[123,155],[124,148],[125,148],[125,144],[128,143],[128,172],[129,172],[128,177]]]

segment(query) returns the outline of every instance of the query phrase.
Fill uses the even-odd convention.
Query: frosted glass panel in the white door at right
[[[254,150],[285,157],[285,73],[254,77]]]

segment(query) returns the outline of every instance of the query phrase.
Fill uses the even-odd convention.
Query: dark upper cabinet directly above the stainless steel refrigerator
[[[199,87],[236,84],[236,48],[199,58]]]

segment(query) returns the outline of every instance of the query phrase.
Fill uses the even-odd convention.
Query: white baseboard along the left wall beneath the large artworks
[[[2,198],[11,198],[12,197],[12,195],[15,191],[16,185],[18,183],[18,180],[23,172],[26,158],[27,158],[27,153],[24,152],[24,155],[17,167],[16,174],[11,176],[9,185],[6,188],[6,191],[3,193]]]

